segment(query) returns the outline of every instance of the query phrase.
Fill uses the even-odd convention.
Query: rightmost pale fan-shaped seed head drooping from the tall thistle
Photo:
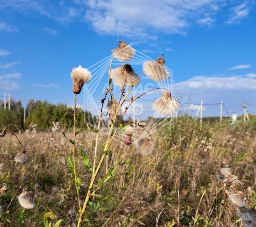
[[[160,115],[170,116],[180,109],[180,104],[178,104],[176,99],[172,98],[169,91],[164,91],[161,98],[154,101],[152,109]]]

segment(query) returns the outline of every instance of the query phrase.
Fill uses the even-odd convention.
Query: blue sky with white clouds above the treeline
[[[223,100],[224,115],[233,111],[240,115],[243,101],[249,112],[256,113],[255,4],[252,0],[1,0],[0,96],[11,93],[23,104],[41,99],[71,105],[71,69],[94,65],[124,40],[152,59],[165,54],[165,64],[172,70],[172,94],[183,111],[194,115],[202,99],[206,104]],[[134,68],[141,72],[139,65]],[[107,74],[93,95],[96,103],[106,78]],[[142,84],[153,83],[143,78]],[[159,95],[145,96],[141,103],[150,106]],[[78,102],[83,104],[82,94]],[[151,114],[145,108],[138,117]],[[204,106],[204,116],[218,115],[219,105]]]

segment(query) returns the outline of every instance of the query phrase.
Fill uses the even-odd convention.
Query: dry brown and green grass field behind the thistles
[[[175,119],[158,134],[153,134],[155,149],[152,156],[143,157],[136,153],[133,146],[129,148],[127,158],[132,161],[118,170],[119,173],[125,172],[125,175],[113,178],[97,192],[106,195],[105,198],[90,199],[85,226],[153,227],[162,209],[164,211],[158,221],[161,227],[177,226],[178,217],[179,226],[222,226],[222,191],[219,190],[222,185],[215,177],[215,168],[233,168],[245,183],[245,189],[251,187],[255,191],[255,126],[253,120],[237,126],[224,122],[220,128],[219,123],[204,123],[200,127],[189,117]],[[71,133],[66,135],[71,137]],[[19,144],[14,136],[6,135],[0,140],[0,176],[2,181],[7,180],[13,195],[18,183],[28,173],[37,172],[36,209],[23,210],[16,200],[2,226],[43,226],[46,217],[53,219],[53,222],[64,219],[61,226],[74,226],[79,214],[76,213],[77,201],[74,202],[73,172],[65,160],[66,154],[71,154],[70,143],[61,132],[39,132],[34,137],[26,134],[18,136],[27,150],[27,164],[14,162]],[[94,136],[92,132],[83,131],[77,140],[78,147],[84,149],[91,159],[94,155]],[[99,144],[104,140],[101,139]],[[124,149],[124,144],[113,143],[114,161]],[[110,160],[107,165],[111,165]],[[91,175],[81,163],[78,172],[85,184],[80,193],[81,200],[84,200]],[[99,177],[104,178],[105,175],[104,167]],[[30,187],[35,188],[34,178]],[[204,190],[206,192],[202,196]],[[0,204],[6,206],[10,199],[9,196],[1,197]],[[247,204],[254,205],[254,200],[248,197]],[[235,209],[235,206],[231,209],[229,227],[240,226]]]

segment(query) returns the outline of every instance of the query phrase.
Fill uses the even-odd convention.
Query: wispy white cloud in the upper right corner
[[[232,7],[231,14],[229,16],[227,24],[239,23],[243,18],[247,17],[250,12],[250,1],[245,1],[244,3]]]

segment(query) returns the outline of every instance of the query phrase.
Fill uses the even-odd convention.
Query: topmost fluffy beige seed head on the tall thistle
[[[119,48],[112,50],[114,57],[119,61],[130,61],[135,55],[135,50],[125,42],[119,43]]]

